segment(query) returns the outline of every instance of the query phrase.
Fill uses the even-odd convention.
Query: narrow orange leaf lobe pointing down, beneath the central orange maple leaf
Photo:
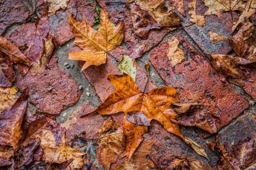
[[[143,141],[143,134],[148,131],[147,126],[139,126],[127,121],[124,117],[124,134],[126,135],[126,156],[128,160],[132,158],[135,150]]]

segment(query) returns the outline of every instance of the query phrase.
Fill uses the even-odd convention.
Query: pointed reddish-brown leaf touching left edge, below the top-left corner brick
[[[14,44],[2,36],[0,36],[0,51],[4,52],[14,63],[30,65],[30,60]]]

